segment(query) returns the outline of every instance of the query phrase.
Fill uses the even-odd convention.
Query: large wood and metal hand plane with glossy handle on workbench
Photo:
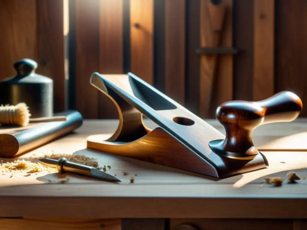
[[[291,92],[261,102],[224,103],[216,112],[225,127],[225,137],[131,73],[94,73],[90,82],[115,103],[119,127],[108,140],[102,135],[89,136],[87,148],[218,178],[268,166],[252,143],[253,129],[293,121],[302,109],[301,99]],[[160,127],[146,128],[142,114]]]

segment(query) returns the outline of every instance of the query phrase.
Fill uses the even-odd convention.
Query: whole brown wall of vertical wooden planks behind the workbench
[[[69,108],[88,119],[118,116],[89,84],[96,71],[131,71],[203,118],[213,118],[222,102],[282,90],[307,101],[306,1],[223,0],[218,33],[214,2],[220,1],[69,0],[68,31],[68,0],[1,0],[0,79],[15,74],[17,59],[32,58],[37,73],[54,80],[55,111],[67,107],[68,97]],[[234,47],[238,54],[196,53],[208,46]]]

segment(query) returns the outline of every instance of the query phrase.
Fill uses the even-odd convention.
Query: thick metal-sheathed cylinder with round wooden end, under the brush
[[[26,130],[21,129],[21,132],[17,129],[17,134],[1,133],[0,157],[16,157],[72,132],[83,123],[78,111],[70,110],[55,115],[66,116],[67,120],[46,122]]]

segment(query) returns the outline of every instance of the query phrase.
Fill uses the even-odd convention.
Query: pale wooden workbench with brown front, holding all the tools
[[[292,143],[294,149],[307,147],[306,121],[260,126],[253,133],[254,144],[266,149],[282,141],[287,146]],[[224,133],[217,121],[208,123]],[[307,179],[284,182],[281,187],[264,183],[265,177],[285,178],[290,170],[307,176],[307,150],[262,151],[270,163],[267,169],[216,180],[85,149],[87,136],[104,133],[107,139],[117,124],[114,120],[84,121],[75,133],[21,158],[52,151],[84,154],[100,165],[110,165],[107,172],[117,174],[122,183],[67,175],[69,182],[60,184],[57,174],[48,172],[28,177],[0,175],[0,229],[307,229]],[[145,124],[155,127],[148,120]],[[122,171],[129,175],[123,176]],[[130,183],[131,175],[134,183]],[[179,227],[183,223],[198,228]]]

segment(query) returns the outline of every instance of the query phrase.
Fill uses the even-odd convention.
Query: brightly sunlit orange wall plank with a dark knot
[[[153,84],[153,0],[130,0],[130,43],[130,71]]]

